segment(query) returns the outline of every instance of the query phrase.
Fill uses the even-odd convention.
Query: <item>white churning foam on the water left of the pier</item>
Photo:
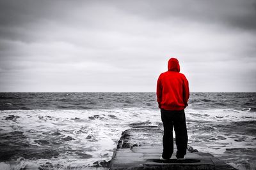
[[[150,111],[145,119],[152,118]],[[133,114],[140,116],[134,117]],[[15,122],[5,120],[8,115],[19,116]],[[91,120],[88,117],[99,115]],[[117,117],[111,118],[108,115]],[[84,153],[92,155],[92,159],[83,159],[83,165],[91,165],[96,160],[110,160],[113,149],[128,125],[141,120],[141,110],[6,110],[1,111],[1,132],[22,131],[31,145],[37,139],[46,139],[51,142],[52,132],[60,132],[61,136],[70,136],[76,140],[67,141],[62,146],[73,150],[84,150]],[[76,119],[77,118],[77,119]],[[78,119],[79,118],[79,119]],[[91,139],[86,137],[92,136]],[[54,148],[57,149],[58,148]],[[54,159],[51,159],[54,162]],[[71,162],[70,162],[71,161]],[[36,164],[43,164],[44,160],[33,160]],[[49,160],[47,160],[49,162]],[[63,162],[66,166],[80,166],[79,159],[72,160],[67,153],[58,156],[56,164]],[[68,163],[67,163],[68,162]],[[75,167],[76,167],[75,166]]]

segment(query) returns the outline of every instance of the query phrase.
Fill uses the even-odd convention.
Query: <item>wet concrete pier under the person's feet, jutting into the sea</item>
[[[157,126],[131,125],[118,141],[110,169],[235,169],[210,153],[198,152],[190,146],[186,160],[176,159],[176,148],[170,160],[160,160],[162,137],[163,131]]]

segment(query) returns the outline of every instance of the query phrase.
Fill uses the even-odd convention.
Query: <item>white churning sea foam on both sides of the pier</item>
[[[5,117],[8,115],[19,116],[20,118],[17,118],[15,121],[5,120]],[[113,115],[116,118],[111,118],[109,115]],[[255,116],[255,113],[248,112],[247,110],[192,110],[189,108],[186,110],[187,120],[234,122],[255,120]],[[63,137],[70,136],[76,140],[67,141],[60,145],[60,147],[83,150],[83,153],[90,154],[93,157],[90,159],[77,159],[76,155],[61,153],[57,159],[26,160],[25,162],[26,164],[30,162],[31,164],[37,165],[51,162],[53,165],[61,164],[65,167],[83,167],[84,165],[92,166],[93,162],[98,160],[110,160],[121,133],[129,128],[129,124],[146,121],[151,122],[152,125],[159,124],[161,122],[160,111],[157,109],[145,110],[143,108],[113,110],[4,110],[0,114],[2,129],[0,132],[22,131],[31,145],[38,146],[40,144],[35,143],[35,140],[47,139],[51,141],[51,132],[58,131]],[[216,131],[214,127],[212,128],[212,131]],[[206,132],[205,134],[204,132],[195,133],[196,135],[202,136],[201,139],[209,135]],[[195,143],[195,139],[193,139],[195,134],[188,135],[189,139],[192,140],[189,141],[191,142],[191,146],[200,152],[221,154],[225,152],[226,148],[256,146],[252,136],[247,136],[245,141],[237,142],[234,141],[235,138],[228,138],[225,134],[219,133],[218,136],[223,136],[223,138],[227,139]],[[88,136],[92,138],[86,139],[89,138]],[[161,141],[161,139],[159,140]],[[55,149],[58,150],[60,148]],[[1,162],[0,167],[8,168],[8,164]]]

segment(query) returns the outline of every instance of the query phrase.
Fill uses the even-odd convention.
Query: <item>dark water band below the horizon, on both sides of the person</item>
[[[191,93],[195,109],[256,111],[256,93]],[[0,93],[0,110],[156,108],[155,93]]]

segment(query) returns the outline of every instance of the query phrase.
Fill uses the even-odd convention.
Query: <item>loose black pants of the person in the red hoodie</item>
[[[170,159],[173,153],[173,126],[175,131],[175,143],[177,146],[177,158],[186,155],[188,144],[188,132],[184,110],[168,111],[161,109],[161,118],[164,125],[163,159]]]

